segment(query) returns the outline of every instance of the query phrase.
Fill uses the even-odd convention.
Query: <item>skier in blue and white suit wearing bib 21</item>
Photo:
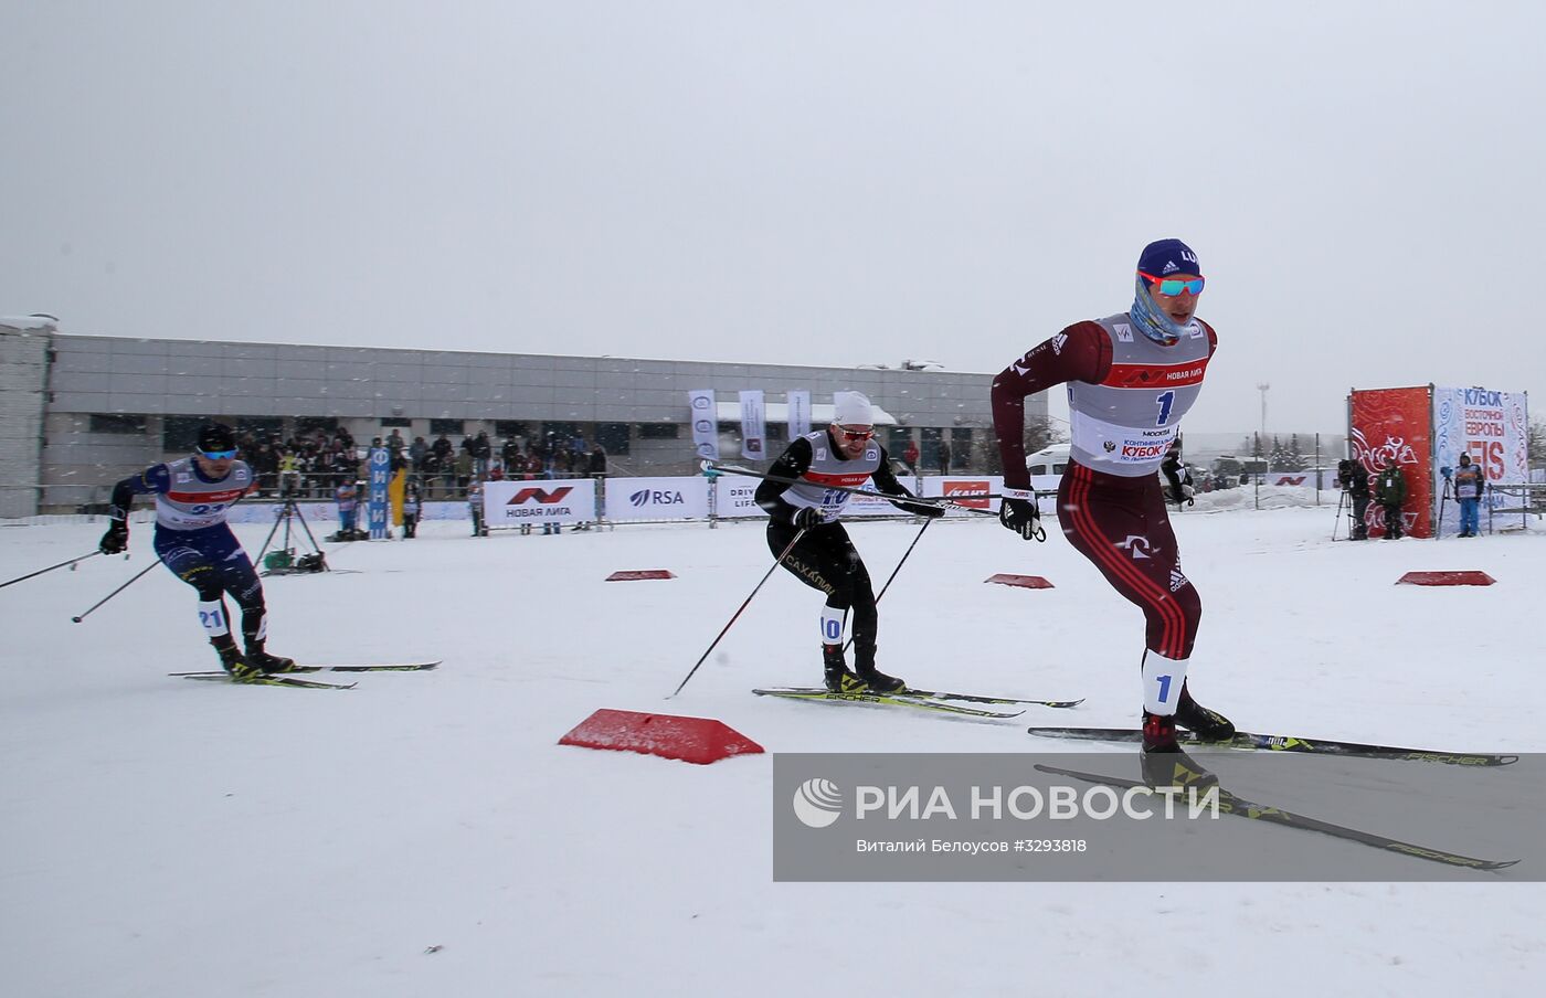
[[[135,496],[156,497],[153,547],[161,562],[198,590],[198,616],[220,655],[221,667],[237,681],[252,683],[269,672],[289,672],[295,663],[264,650],[267,613],[263,582],[252,561],[226,524],[232,505],[252,491],[252,470],[237,460],[230,426],[210,423],[198,434],[198,451],[152,465],[113,488],[111,524],[102,535],[104,555],[128,547],[128,508]],[[246,653],[230,635],[224,593],[241,607]]]

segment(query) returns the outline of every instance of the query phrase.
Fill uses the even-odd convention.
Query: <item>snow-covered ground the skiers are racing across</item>
[[[1546,751],[1546,535],[1333,544],[1333,516],[1177,519],[1204,604],[1198,697],[1254,731]],[[100,530],[0,528],[0,578],[91,550]],[[877,584],[917,533],[850,530]],[[238,533],[257,550],[266,531]],[[597,708],[717,717],[770,751],[1045,751],[1027,721],[1130,725],[1141,616],[1051,533],[1037,545],[986,519],[940,524],[881,604],[881,666],[918,686],[1087,697],[960,723],[751,697],[819,677],[819,598],[784,573],[665,701],[770,562],[751,524],[485,541],[428,524],[413,542],[329,545],[348,572],[267,581],[274,650],[445,660],[342,694],[169,678],[213,657],[192,592],[159,569],[73,624],[147,564],[139,525],[127,564],[0,590],[0,992],[1538,984],[1540,884],[775,884],[771,755],[690,766],[555,745]],[[617,569],[679,578],[604,582]],[[1393,586],[1415,569],[1500,584]],[[1056,589],[985,586],[997,572]],[[1263,850],[1303,834],[1252,831]]]

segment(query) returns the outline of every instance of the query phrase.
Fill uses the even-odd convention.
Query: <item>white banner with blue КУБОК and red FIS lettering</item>
[[[1455,468],[1461,454],[1470,454],[1487,482],[1527,482],[1529,425],[1529,395],[1524,392],[1435,388],[1435,465]]]

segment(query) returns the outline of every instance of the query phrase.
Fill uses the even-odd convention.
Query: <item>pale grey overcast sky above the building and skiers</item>
[[[1541,3],[0,0],[0,314],[63,332],[993,372],[1178,236],[1189,429],[1258,382],[1285,431],[1546,392]]]

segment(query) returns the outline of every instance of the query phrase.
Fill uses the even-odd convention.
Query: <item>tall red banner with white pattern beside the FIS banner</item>
[[[1432,389],[1374,388],[1354,391],[1348,400],[1348,446],[1353,460],[1368,470],[1370,488],[1394,459],[1407,479],[1407,501],[1401,505],[1402,530],[1413,538],[1433,536],[1433,402]],[[1385,533],[1379,502],[1368,504],[1368,536]]]

